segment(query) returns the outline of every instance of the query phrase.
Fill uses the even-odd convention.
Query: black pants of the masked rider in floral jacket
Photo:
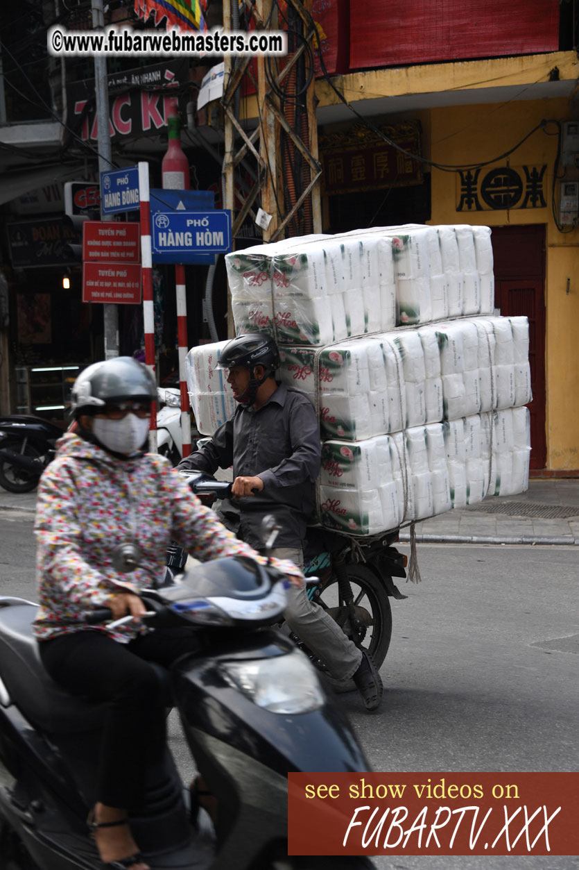
[[[75,632],[38,645],[52,679],[72,694],[107,705],[98,759],[97,800],[137,809],[147,766],[163,757],[166,729],[161,681],[149,662],[165,667],[199,649],[189,628],[156,630],[129,644],[97,631]]]

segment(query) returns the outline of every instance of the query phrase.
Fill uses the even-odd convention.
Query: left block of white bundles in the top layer
[[[311,237],[256,245],[225,258],[236,331],[281,344],[328,345],[396,325],[392,243]]]

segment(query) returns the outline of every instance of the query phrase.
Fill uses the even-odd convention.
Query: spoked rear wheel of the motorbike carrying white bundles
[[[314,596],[314,601],[336,619],[356,646],[371,655],[379,668],[388,653],[392,635],[389,596],[376,574],[365,565],[349,565],[346,571],[354,596],[353,618],[343,599],[340,599],[335,574],[331,574],[319,587],[319,594]],[[349,692],[356,688],[351,679],[346,682],[328,679],[338,692]]]

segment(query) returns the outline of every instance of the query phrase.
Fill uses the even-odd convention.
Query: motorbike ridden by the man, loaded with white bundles
[[[205,504],[212,505],[231,494],[231,482],[216,480],[203,472],[179,472],[187,478],[190,488]],[[392,609],[390,598],[399,600],[408,596],[395,585],[393,578],[406,577],[407,557],[394,546],[399,532],[356,539],[354,536],[333,532],[321,525],[308,527],[304,548],[304,574],[306,592],[311,601],[322,606],[336,619],[356,646],[372,656],[376,667],[383,665],[392,635]],[[171,545],[167,553],[167,572],[175,576],[183,570],[187,553]],[[320,659],[309,651],[293,633],[296,643],[323,671],[336,692],[355,691],[353,680],[338,681],[326,673]]]

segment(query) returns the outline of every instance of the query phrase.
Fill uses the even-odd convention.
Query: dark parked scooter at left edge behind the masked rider
[[[0,417],[0,486],[8,492],[31,492],[55,455],[64,432],[31,414]]]

